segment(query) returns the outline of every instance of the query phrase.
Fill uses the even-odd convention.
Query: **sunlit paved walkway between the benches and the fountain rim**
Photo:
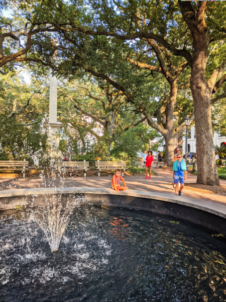
[[[125,176],[127,186],[132,190],[152,191],[174,195],[174,189],[172,186],[173,177],[171,171],[155,169],[158,172],[158,176],[152,176],[151,180],[145,179],[145,176]],[[1,176],[3,177],[3,175]],[[7,177],[7,174],[6,174]],[[187,183],[195,183],[196,176],[188,174]],[[220,184],[226,187],[226,181],[220,180]],[[94,188],[111,188],[111,177],[27,177],[27,178],[0,178],[0,189],[10,190],[16,188],[39,188],[39,187],[94,187]],[[201,191],[201,190],[200,190]],[[211,187],[209,190],[203,192],[193,192],[188,187],[183,189],[183,197],[190,197],[196,199],[202,199],[206,201],[212,201],[226,205],[226,195],[211,194]]]

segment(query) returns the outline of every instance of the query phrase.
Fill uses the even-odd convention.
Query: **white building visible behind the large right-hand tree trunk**
[[[221,136],[220,133],[213,133],[213,143],[217,146],[222,146],[225,144],[226,146],[226,136]],[[195,152],[196,153],[196,133],[195,127],[191,127],[191,130],[188,131],[187,138],[187,152]],[[185,153],[185,135],[183,136],[183,153]]]

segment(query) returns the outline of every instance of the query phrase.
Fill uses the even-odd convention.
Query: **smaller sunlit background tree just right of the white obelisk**
[[[100,89],[97,84],[72,81],[58,89],[58,96],[64,100],[59,104],[62,112],[59,119],[66,120],[70,127],[77,129],[83,145],[85,132],[97,140],[104,140],[108,156],[118,132],[134,128],[146,119],[139,119],[141,114],[136,108],[129,108],[131,106],[124,101],[122,92],[112,89],[107,83],[102,83]],[[63,103],[69,103],[66,110],[62,110]]]

